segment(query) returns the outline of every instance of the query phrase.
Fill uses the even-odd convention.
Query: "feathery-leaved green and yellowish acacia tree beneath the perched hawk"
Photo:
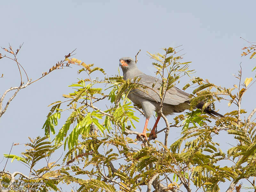
[[[189,62],[180,62],[182,57],[174,48],[165,48],[163,52],[148,53],[155,60],[153,65],[157,70],[156,75],[163,80],[158,92],[161,101],[164,100],[166,90],[178,84],[182,76],[189,76],[193,72],[188,68]],[[234,188],[240,191],[242,184],[238,183],[245,179],[251,183],[248,188],[256,191],[252,179],[256,175],[256,127],[255,119],[251,120],[256,108],[249,115],[242,109],[241,101],[252,85],[249,85],[252,78],[243,81],[241,69],[236,76],[238,83],[232,88],[191,77],[191,81],[183,87],[186,90],[197,85],[191,94],[191,111],[175,116],[172,125],[169,123],[170,118],[162,114],[166,127],[156,132],[165,131],[165,141],[162,143],[159,140],[152,141],[151,138],[132,139],[132,134],[139,135],[139,132],[133,130],[136,128],[134,123],[139,121],[136,114],[144,113],[140,106],[131,103],[127,95],[134,88],[143,91],[152,87],[141,85],[139,78],[125,81],[120,74],[92,78],[97,71],[105,75],[104,70],[74,58],[66,58],[66,61],[82,65],[78,73],[86,72],[88,78],[71,84],[75,91],[64,94],[64,101],[51,104],[52,108],[43,126],[45,137],[31,140],[32,144],[29,144],[33,149],[32,155],[25,152],[21,157],[5,156],[34,165],[42,156],[47,157],[60,147],[67,151],[66,155],[62,164],[54,164],[54,167],[47,165],[41,170],[31,168],[36,177],[25,179],[46,180],[47,185],[56,191],[61,190],[57,184],[65,182],[79,184],[77,191],[111,192],[149,192],[153,188],[159,192],[220,191],[221,182],[229,182],[225,190],[231,192]],[[203,110],[194,110],[202,100],[205,102]],[[221,118],[203,112],[207,106],[214,109],[215,101],[225,100],[228,100],[229,106],[236,105],[237,110],[229,111]],[[99,107],[102,103],[106,107]],[[160,112],[162,103],[159,103]],[[55,134],[61,114],[65,112],[69,113],[68,118],[52,144],[44,142],[51,133]],[[244,120],[241,116],[245,117]],[[171,127],[180,127],[181,133],[179,139],[168,144]],[[223,152],[223,146],[218,143],[220,132],[233,135],[237,145]],[[38,147],[35,147],[37,144]],[[230,161],[232,165],[223,166],[223,160]],[[2,179],[12,178],[5,173]],[[20,176],[19,179],[24,177]],[[37,189],[49,190],[49,187]]]

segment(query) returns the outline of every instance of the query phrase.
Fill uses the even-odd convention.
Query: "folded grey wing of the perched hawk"
[[[138,84],[145,85],[149,88],[143,89],[143,87],[139,89],[131,90],[131,93],[138,95],[139,97],[160,102],[159,90],[158,88],[161,86],[162,80],[157,79],[156,77],[149,76],[149,75],[139,75],[138,78],[141,78],[140,81],[136,80],[135,82]],[[133,82],[133,81],[132,81]],[[152,84],[155,86],[152,88]],[[150,89],[152,88],[152,89]],[[164,103],[170,105],[178,105],[180,103],[184,103],[185,101],[190,100],[189,95],[186,92],[181,91],[177,87],[172,87],[171,89],[167,90],[166,95],[164,97]]]

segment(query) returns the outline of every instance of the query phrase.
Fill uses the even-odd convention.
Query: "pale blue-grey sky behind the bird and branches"
[[[182,44],[184,61],[192,61],[190,68],[197,71],[194,76],[231,87],[237,84],[232,74],[237,74],[241,61],[243,79],[254,77],[255,60],[240,57],[241,48],[248,44],[239,37],[255,41],[255,5],[254,1],[2,1],[0,46],[10,43],[16,49],[24,42],[18,59],[29,78],[36,79],[75,48],[76,58],[95,63],[109,76],[117,73],[119,58],[134,57],[141,49],[138,68],[154,75],[146,52]],[[69,84],[85,77],[77,75],[78,69],[55,71],[18,93],[0,120],[0,154],[8,153],[12,142],[25,143],[28,136],[44,134],[41,128],[50,109],[47,105],[61,100],[63,93],[71,92]],[[1,94],[19,84],[17,68],[9,60],[0,60],[0,73],[4,73]],[[247,111],[256,107],[254,90],[248,91],[242,103]],[[222,114],[230,110],[226,103],[216,106]],[[149,126],[153,124],[149,121]],[[143,125],[141,118],[138,130]],[[164,121],[159,125],[164,126]],[[173,135],[169,143],[178,134]],[[225,144],[228,138],[232,137],[223,135],[216,140]],[[12,153],[22,149],[16,146]],[[0,167],[4,164],[5,159]],[[8,163],[7,168],[26,170],[16,162]]]

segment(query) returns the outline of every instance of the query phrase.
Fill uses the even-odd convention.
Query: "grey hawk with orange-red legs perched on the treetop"
[[[146,87],[152,87],[152,84],[155,84],[153,88],[140,88],[140,89],[132,89],[128,93],[128,98],[136,105],[140,106],[143,109],[143,112],[146,117],[145,126],[143,132],[140,133],[140,136],[145,137],[147,140],[147,127],[148,120],[150,116],[153,115],[154,111],[159,113],[161,98],[157,94],[159,92],[158,88],[161,86],[162,79],[159,80],[156,77],[149,76],[141,72],[135,63],[135,61],[131,57],[123,57],[121,58],[119,66],[121,66],[123,70],[124,80],[133,79],[134,77],[138,77],[139,84],[145,85]],[[133,81],[132,81],[133,82]],[[173,113],[180,113],[186,109],[190,108],[190,98],[188,93],[178,89],[177,87],[172,87],[167,90],[164,96],[164,104],[163,104],[163,114],[171,115]],[[196,108],[202,109],[204,106],[204,102],[201,101]],[[204,110],[207,114],[215,115],[223,117],[223,115],[217,113],[216,111],[211,110],[210,107],[205,108]],[[156,139],[156,126],[161,117],[161,114],[157,114],[156,123],[153,126],[152,131],[150,132],[149,137],[152,136],[153,139]],[[138,137],[137,137],[138,138]]]

